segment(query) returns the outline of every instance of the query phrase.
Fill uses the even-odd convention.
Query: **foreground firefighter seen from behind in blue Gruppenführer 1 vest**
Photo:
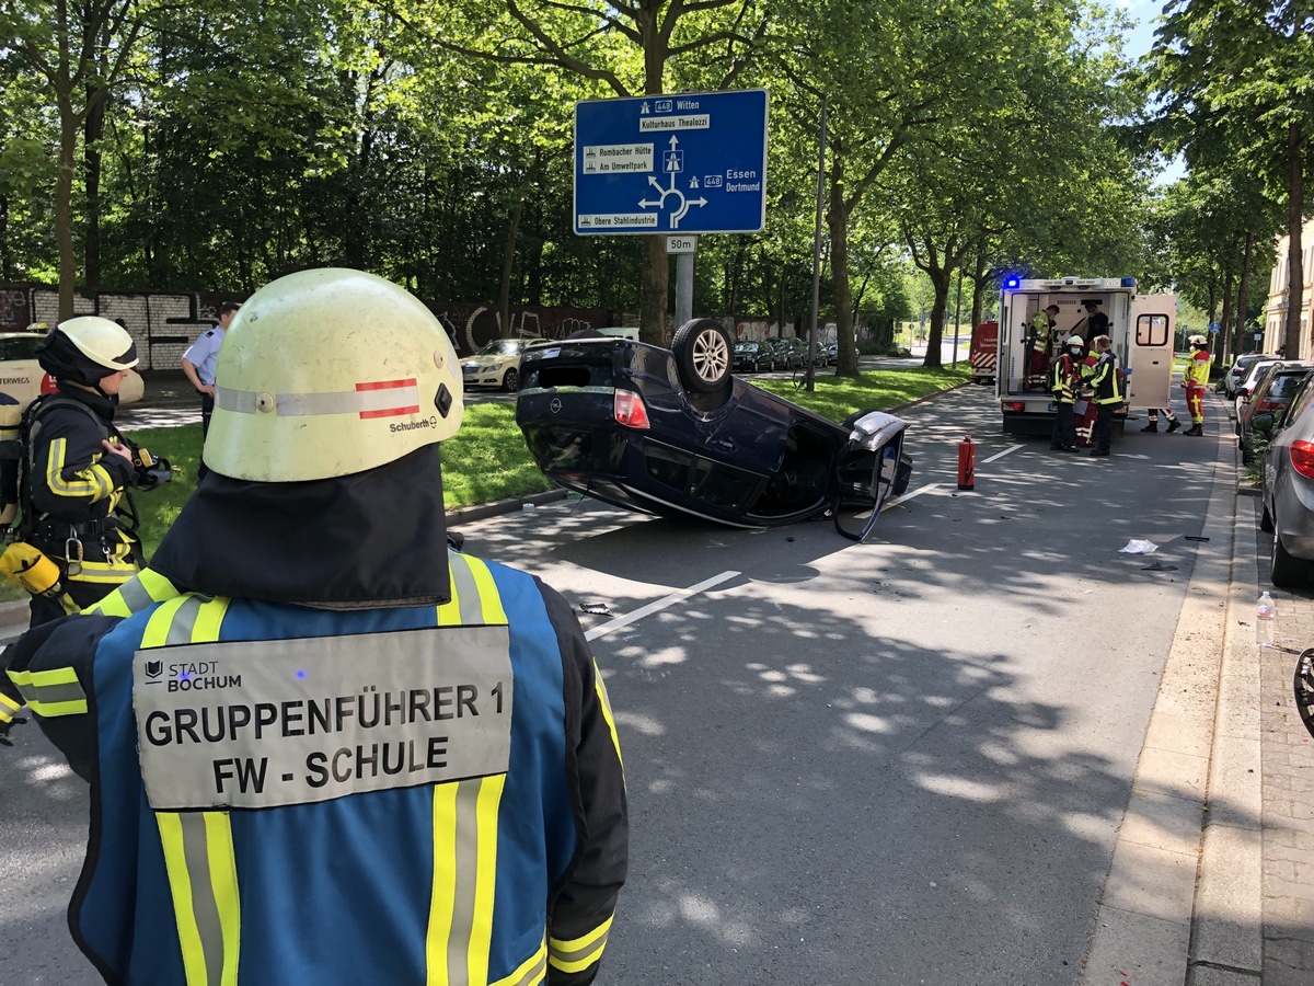
[[[151,567],[4,659],[93,787],[79,947],[127,986],[593,982],[616,724],[565,599],[448,543],[447,333],[304,271],[242,308],[218,381]]]

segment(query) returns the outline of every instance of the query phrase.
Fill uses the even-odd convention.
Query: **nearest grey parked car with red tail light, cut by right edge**
[[[1259,526],[1273,535],[1268,578],[1281,588],[1310,580],[1314,561],[1314,375],[1285,413],[1257,411],[1251,427],[1271,435],[1260,464]]]

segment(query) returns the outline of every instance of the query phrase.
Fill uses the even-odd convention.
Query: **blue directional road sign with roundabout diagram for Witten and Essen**
[[[766,89],[577,103],[576,233],[759,233],[766,103]]]

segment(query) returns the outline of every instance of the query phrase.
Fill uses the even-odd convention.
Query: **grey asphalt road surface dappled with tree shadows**
[[[987,388],[905,417],[862,546],[589,501],[461,527],[589,610],[633,828],[599,983],[1076,982],[1217,446],[1051,454]],[[35,730],[0,752],[7,982],[99,982],[63,927],[85,810]]]

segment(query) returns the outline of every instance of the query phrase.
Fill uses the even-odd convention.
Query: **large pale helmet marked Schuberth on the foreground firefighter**
[[[254,482],[350,476],[451,438],[456,350],[407,291],[346,268],[260,288],[219,348],[205,464]]]

